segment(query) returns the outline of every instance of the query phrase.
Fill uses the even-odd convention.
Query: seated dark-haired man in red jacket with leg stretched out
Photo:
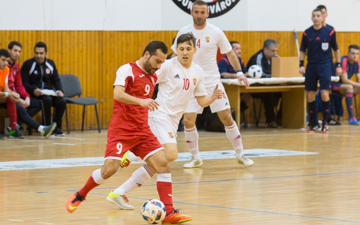
[[[32,119],[32,117],[25,109],[30,105],[30,94],[26,92],[25,87],[22,85],[19,65],[16,62],[17,58],[20,56],[21,49],[22,45],[18,41],[11,41],[7,48],[10,54],[9,63],[7,65],[10,68],[7,85],[10,90],[17,92],[20,95],[19,101],[16,103],[18,124],[16,128],[19,129],[19,126],[22,123],[25,123],[30,128],[38,130],[45,138],[47,138],[56,127],[56,123],[53,122],[49,126],[40,125],[38,122]]]

